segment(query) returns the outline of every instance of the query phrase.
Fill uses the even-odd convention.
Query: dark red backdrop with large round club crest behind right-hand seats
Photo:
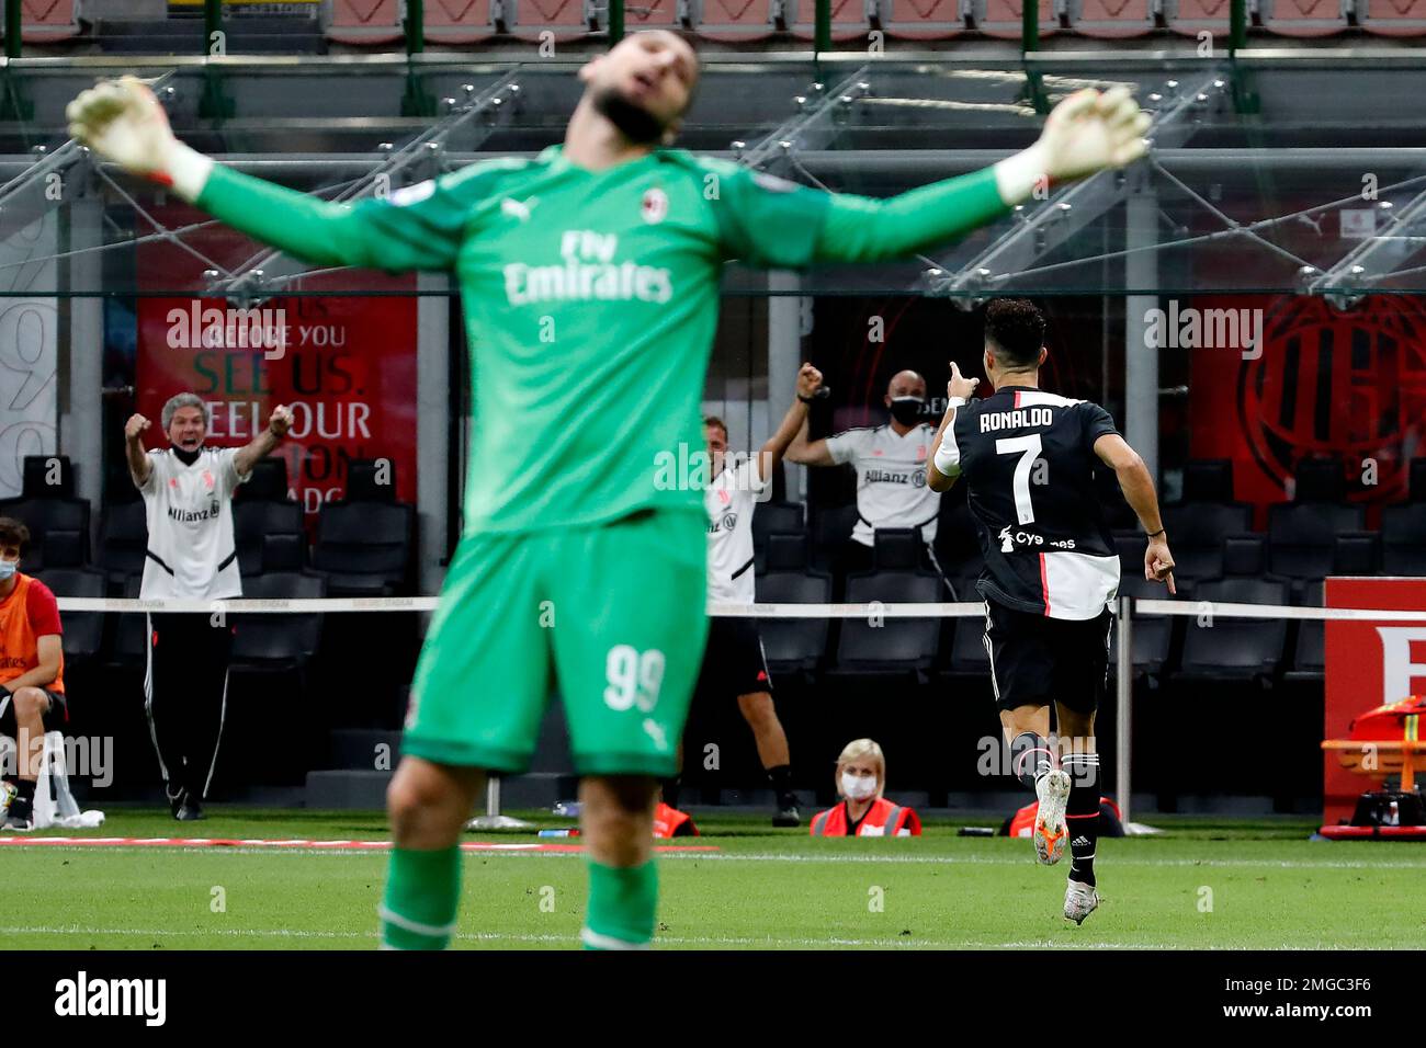
[[[1352,498],[1400,500],[1410,459],[1426,453],[1426,305],[1372,295],[1339,312],[1320,297],[1209,295],[1166,311],[1166,334],[1189,352],[1191,455],[1232,459],[1235,495],[1259,506],[1289,499],[1298,462],[1338,455],[1353,473]],[[1246,318],[1246,322],[1216,322]],[[1184,317],[1175,322],[1175,317]],[[1258,345],[1215,339],[1261,332]],[[1169,341],[1176,346],[1181,341]],[[1226,345],[1219,345],[1226,341]]]

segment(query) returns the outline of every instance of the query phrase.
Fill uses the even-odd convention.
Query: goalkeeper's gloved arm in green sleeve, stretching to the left
[[[178,141],[163,106],[137,77],[83,91],[66,117],[70,134],[101,157],[307,262],[388,271],[453,264],[461,215],[429,200],[434,192],[414,194],[411,202],[421,207],[376,200],[332,204],[241,174]]]

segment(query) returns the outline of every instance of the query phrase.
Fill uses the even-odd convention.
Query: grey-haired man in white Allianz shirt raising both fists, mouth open
[[[232,493],[252,465],[277,448],[292,423],[282,405],[268,428],[244,448],[205,448],[208,408],[194,394],[170,398],[163,409],[170,448],[144,451],[143,415],[124,423],[124,452],[144,496],[148,549],[140,596],[224,600],[242,596],[232,535]],[[228,696],[232,627],[214,626],[207,612],[148,616],[144,711],[158,753],[174,818],[202,818],[212,781]]]

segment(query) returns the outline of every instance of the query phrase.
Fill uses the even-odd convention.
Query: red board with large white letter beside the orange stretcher
[[[1426,610],[1426,579],[1328,579],[1328,607]],[[1426,694],[1426,622],[1328,622],[1323,739],[1349,739],[1353,717],[1412,694]],[[1368,776],[1322,757],[1322,823],[1349,820]]]

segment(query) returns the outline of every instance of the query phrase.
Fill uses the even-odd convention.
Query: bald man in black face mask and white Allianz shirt
[[[898,371],[887,384],[886,406],[890,422],[847,429],[821,441],[807,439],[804,419],[787,449],[789,462],[804,466],[850,462],[857,471],[857,523],[840,558],[846,572],[871,570],[878,528],[920,528],[925,563],[935,566],[931,542],[941,495],[925,483],[927,456],[935,451],[931,446],[935,426],[923,413],[925,379],[914,371]]]

